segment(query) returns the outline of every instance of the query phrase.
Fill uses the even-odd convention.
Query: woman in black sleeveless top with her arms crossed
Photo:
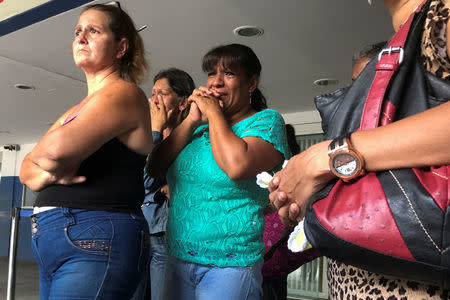
[[[22,162],[40,194],[32,248],[41,299],[129,299],[148,261],[142,169],[152,149],[149,105],[136,85],[147,63],[133,21],[116,5],[88,6],[72,45],[88,94]]]

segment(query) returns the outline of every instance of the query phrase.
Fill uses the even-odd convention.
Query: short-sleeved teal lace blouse
[[[232,126],[240,138],[260,137],[288,159],[284,121],[271,109]],[[272,171],[277,171],[281,163]],[[264,253],[263,208],[266,189],[256,178],[233,181],[211,150],[208,125],[197,128],[167,173],[170,189],[166,241],[169,254],[189,262],[228,267],[249,266]]]

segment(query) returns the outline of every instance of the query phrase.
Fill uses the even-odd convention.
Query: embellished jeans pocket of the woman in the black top
[[[109,255],[113,236],[113,225],[109,219],[68,225],[64,231],[67,241],[75,249],[84,253]]]

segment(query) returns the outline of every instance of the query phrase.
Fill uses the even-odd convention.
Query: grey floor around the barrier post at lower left
[[[37,264],[17,261],[15,300],[38,300],[39,282]],[[0,257],[0,299],[6,299],[8,282],[8,258]]]

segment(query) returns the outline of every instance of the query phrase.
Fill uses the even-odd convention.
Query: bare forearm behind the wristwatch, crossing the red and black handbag
[[[450,103],[351,136],[368,171],[450,163]]]

